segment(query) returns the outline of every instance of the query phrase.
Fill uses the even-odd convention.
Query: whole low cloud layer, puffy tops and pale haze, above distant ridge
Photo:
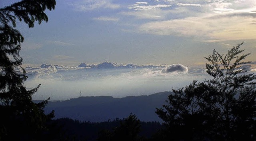
[[[241,68],[255,72],[252,65]],[[113,62],[100,64],[81,63],[76,66],[42,64],[26,67],[31,88],[42,84],[34,99],[66,100],[80,96],[138,96],[155,92],[171,91],[190,84],[193,80],[203,81],[210,76],[201,67],[172,65],[135,65]]]

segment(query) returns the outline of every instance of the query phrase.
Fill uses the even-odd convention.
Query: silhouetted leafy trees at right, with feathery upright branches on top
[[[250,53],[240,55],[240,45],[220,54],[215,49],[206,59],[207,73],[213,77],[193,81],[173,90],[156,114],[166,129],[159,137],[166,140],[255,140],[256,76],[242,65]]]

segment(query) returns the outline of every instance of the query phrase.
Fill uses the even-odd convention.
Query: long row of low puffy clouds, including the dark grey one
[[[130,72],[130,71],[139,71],[142,69],[148,69],[145,74],[163,74],[165,75],[168,72],[178,72],[178,73],[187,73],[188,67],[185,67],[181,64],[176,65],[160,65],[160,64],[146,64],[146,65],[135,65],[132,63],[114,63],[114,62],[103,62],[100,64],[87,64],[82,62],[80,65],[76,66],[63,66],[63,65],[47,65],[42,64],[40,67],[26,67],[26,72],[28,74],[28,78],[61,78],[66,80],[78,80],[81,78],[91,78],[91,77],[99,77],[102,76],[100,74],[94,74],[96,71],[109,71],[109,70],[126,70],[123,72]],[[74,75],[64,76],[64,74],[74,73]],[[86,75],[77,75],[81,72],[90,72],[86,73]],[[77,73],[77,74],[76,74]],[[143,74],[141,74],[143,75]]]

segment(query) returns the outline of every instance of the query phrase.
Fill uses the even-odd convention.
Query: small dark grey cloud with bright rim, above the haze
[[[188,67],[181,64],[173,64],[173,65],[170,65],[169,67],[162,69],[162,73],[169,73],[169,72],[188,73]]]

